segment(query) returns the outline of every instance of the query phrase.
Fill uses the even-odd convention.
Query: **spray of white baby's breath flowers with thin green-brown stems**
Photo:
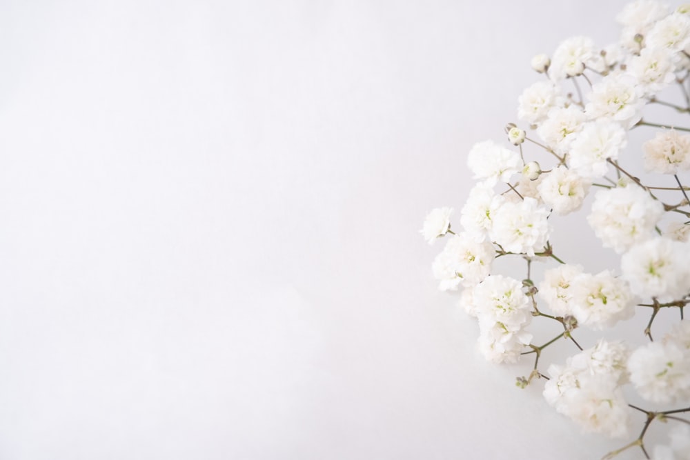
[[[549,406],[624,440],[604,458],[639,448],[647,459],[690,459],[690,188],[679,177],[690,170],[690,5],[638,0],[616,20],[617,43],[572,37],[532,59],[545,78],[518,99],[524,128],[506,126],[512,147],[484,141],[468,154],[477,183],[460,230],[451,230],[451,208],[437,208],[421,232],[428,243],[447,240],[433,274],[441,290],[460,291],[484,357],[533,360],[517,386],[544,382]],[[681,114],[689,127],[674,126]],[[633,130],[641,145],[628,146]],[[629,170],[640,152],[644,179]],[[591,273],[558,256],[553,221],[581,208],[619,266]],[[493,272],[499,258],[524,259],[526,274]],[[538,261],[547,262],[539,276]],[[660,313],[671,321],[663,335],[653,332]],[[611,339],[635,314],[649,317],[640,341]],[[535,343],[535,321],[558,335]],[[600,339],[580,343],[578,328]],[[546,367],[542,351],[557,341],[573,354]],[[667,441],[649,446],[650,426],[667,429]]]

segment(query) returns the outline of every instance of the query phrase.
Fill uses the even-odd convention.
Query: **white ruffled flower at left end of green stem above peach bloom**
[[[585,112],[590,119],[609,118],[632,128],[642,118],[642,89],[629,74],[609,74],[595,83]]]

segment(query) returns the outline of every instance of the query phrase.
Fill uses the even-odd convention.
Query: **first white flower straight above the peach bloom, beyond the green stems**
[[[644,48],[628,63],[628,71],[638,80],[644,94],[652,96],[676,81],[673,52],[667,48]]]

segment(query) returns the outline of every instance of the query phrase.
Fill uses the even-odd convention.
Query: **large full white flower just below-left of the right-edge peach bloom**
[[[597,192],[587,221],[604,248],[622,254],[633,244],[651,238],[663,214],[659,201],[631,185]]]

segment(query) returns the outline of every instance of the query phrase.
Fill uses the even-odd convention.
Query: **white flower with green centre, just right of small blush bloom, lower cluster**
[[[635,313],[630,286],[609,270],[595,275],[580,274],[571,284],[570,303],[573,316],[580,324],[602,330]]]

